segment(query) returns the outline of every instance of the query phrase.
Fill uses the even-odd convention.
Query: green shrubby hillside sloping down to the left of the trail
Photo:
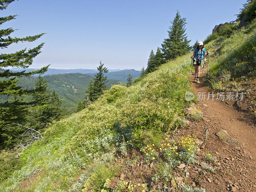
[[[189,104],[184,95],[191,91],[188,57],[163,65],[131,87],[114,85],[88,108],[53,124],[20,156],[21,168],[3,181],[1,190],[21,191],[28,182],[31,191],[81,191],[92,176],[96,189],[98,182],[119,173],[110,164],[129,148],[160,146],[161,132],[184,126],[182,110]]]

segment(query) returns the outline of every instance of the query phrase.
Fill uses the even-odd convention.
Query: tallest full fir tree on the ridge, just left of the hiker
[[[189,46],[191,40],[188,41],[185,33],[186,18],[181,18],[178,10],[171,24],[172,26],[169,27],[170,30],[168,31],[169,38],[164,39],[162,44],[165,60],[175,59],[191,50],[191,46]]]

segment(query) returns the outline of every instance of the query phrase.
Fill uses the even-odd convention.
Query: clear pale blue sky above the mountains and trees
[[[191,44],[203,41],[215,25],[236,20],[246,0],[215,1],[87,1],[19,0],[2,16],[19,15],[1,28],[19,29],[12,36],[47,33],[33,43],[12,44],[2,53],[45,45],[31,68],[96,68],[100,60],[109,69],[147,67],[151,50],[161,48],[170,21],[179,10],[188,23]]]

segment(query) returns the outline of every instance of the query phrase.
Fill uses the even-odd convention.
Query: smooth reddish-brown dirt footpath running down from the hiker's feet
[[[203,73],[204,76],[206,74]],[[192,82],[194,77],[190,78]],[[256,136],[253,126],[246,123],[243,119],[243,114],[237,111],[234,107],[229,106],[227,103],[216,100],[216,95],[214,99],[208,99],[207,88],[204,87],[202,80],[199,84],[193,84],[194,93],[201,94],[205,92],[205,99],[199,100],[199,104],[206,104],[208,107],[204,107],[202,111],[210,119],[214,119],[215,123],[219,126],[219,129],[224,129],[228,131],[228,134],[238,141],[241,145],[245,145],[245,148],[250,155],[256,159]],[[200,93],[201,92],[201,93]],[[212,94],[212,92],[210,92]],[[202,97],[200,98],[202,99]]]

